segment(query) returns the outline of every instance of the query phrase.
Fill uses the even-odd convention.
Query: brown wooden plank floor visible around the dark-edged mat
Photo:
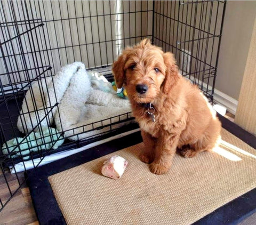
[[[226,117],[234,122],[234,115],[229,112]],[[10,183],[11,189],[15,190],[19,186],[17,178],[13,174],[7,175],[7,179]],[[23,173],[19,174],[20,182],[24,181]],[[0,194],[2,200],[7,200],[10,196],[9,189],[5,184],[2,174],[0,174]],[[30,197],[30,192],[26,186],[26,182],[23,183],[21,188],[17,191],[11,201],[0,212],[0,225],[37,225],[39,224],[36,218],[36,213],[33,207],[33,203]],[[256,213],[249,218],[239,223],[239,225],[254,225],[256,224]]]

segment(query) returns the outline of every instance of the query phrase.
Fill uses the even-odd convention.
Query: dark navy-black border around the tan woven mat
[[[218,115],[222,127],[256,149],[256,138],[230,120]],[[30,195],[40,224],[66,224],[58,203],[53,195],[48,176],[68,170],[93,159],[121,150],[142,141],[140,132],[119,138],[97,147],[79,152],[67,158],[29,170],[25,173]],[[223,205],[194,225],[237,224],[256,212],[256,188]]]

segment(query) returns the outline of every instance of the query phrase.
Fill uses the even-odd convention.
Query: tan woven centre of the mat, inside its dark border
[[[222,129],[215,152],[176,155],[169,173],[142,163],[143,144],[49,177],[68,224],[191,224],[256,186],[256,151]],[[102,176],[111,155],[128,160],[122,178]]]

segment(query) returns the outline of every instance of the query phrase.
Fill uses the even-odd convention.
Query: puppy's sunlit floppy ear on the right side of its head
[[[162,84],[162,91],[164,94],[168,94],[179,78],[179,68],[176,65],[176,60],[171,52],[164,53],[163,58],[166,71],[164,82]]]

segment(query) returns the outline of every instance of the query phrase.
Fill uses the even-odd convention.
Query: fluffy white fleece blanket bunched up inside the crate
[[[53,77],[33,82],[22,103],[18,129],[29,133],[33,128],[38,130],[40,126],[55,123],[57,130],[65,132],[65,138],[70,140],[109,131],[109,124],[127,118],[126,113],[131,111],[130,102],[117,97],[114,92],[98,90],[102,82],[95,85],[95,77],[102,81],[102,77],[93,76],[92,79],[82,62],[74,62],[62,67]],[[105,87],[109,87],[107,80],[105,82]],[[57,102],[58,106],[53,107]],[[122,114],[125,115],[119,116]],[[131,114],[128,116],[132,117]],[[111,129],[123,125],[116,123]]]

